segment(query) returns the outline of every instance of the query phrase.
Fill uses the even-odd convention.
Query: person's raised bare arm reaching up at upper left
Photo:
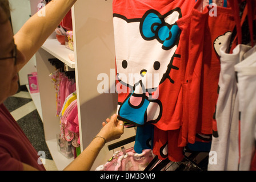
[[[77,0],[52,0],[43,7],[46,13],[45,16],[38,16],[37,13],[34,14],[22,26],[21,30],[14,35],[17,48],[26,56],[25,63],[18,65],[19,70],[54,32],[55,28],[58,27],[61,20],[76,1]],[[41,11],[43,11],[43,9],[41,9]]]

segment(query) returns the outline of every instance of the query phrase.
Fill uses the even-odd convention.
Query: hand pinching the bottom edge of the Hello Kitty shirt
[[[106,139],[106,142],[118,139],[123,134],[123,121],[118,121],[117,114],[113,114],[111,118],[107,118],[106,122],[102,123],[102,129],[97,136],[101,136]]]

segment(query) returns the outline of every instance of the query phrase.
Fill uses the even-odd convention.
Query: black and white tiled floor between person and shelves
[[[57,171],[57,167],[51,157],[50,151],[45,143],[43,123],[29,92],[20,91],[4,102],[7,109],[13,115],[19,126],[29,138],[37,151],[45,152],[45,168],[47,171]]]

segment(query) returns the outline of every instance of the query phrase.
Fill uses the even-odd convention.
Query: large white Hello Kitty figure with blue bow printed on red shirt
[[[175,54],[181,33],[176,23],[179,18],[179,8],[164,15],[148,10],[133,19],[114,14],[117,80],[122,85],[117,92],[124,96],[118,102],[119,119],[136,126],[161,119],[159,85],[166,79],[174,84],[170,71],[179,70],[173,65],[173,58],[179,56]],[[129,88],[129,93],[123,88]]]

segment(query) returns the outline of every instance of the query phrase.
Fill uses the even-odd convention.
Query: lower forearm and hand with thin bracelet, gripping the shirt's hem
[[[123,134],[123,122],[117,120],[117,114],[114,114],[110,119],[107,119],[107,124],[102,123],[103,128],[96,135],[89,146],[69,164],[64,170],[67,171],[89,171],[99,151],[105,145],[105,142],[118,139]],[[102,138],[103,137],[103,138]],[[106,140],[106,141],[105,141]]]

